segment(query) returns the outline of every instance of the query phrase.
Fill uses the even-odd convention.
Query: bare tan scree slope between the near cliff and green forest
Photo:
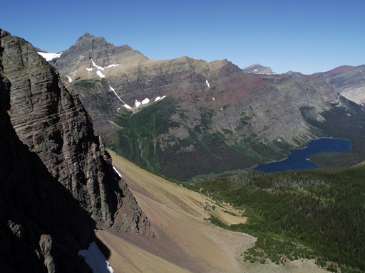
[[[241,254],[255,245],[255,237],[217,228],[205,220],[212,214],[228,225],[245,223],[239,210],[170,183],[109,152],[113,166],[133,191],[156,235],[150,239],[110,230],[96,232],[108,248],[107,258],[115,273],[326,272],[307,259],[285,266],[245,262]]]

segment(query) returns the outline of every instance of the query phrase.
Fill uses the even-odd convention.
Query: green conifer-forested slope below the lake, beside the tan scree
[[[315,257],[331,272],[364,272],[364,177],[361,166],[333,172],[250,172],[196,186],[245,210],[247,223],[228,228],[257,237],[245,259],[284,264]]]

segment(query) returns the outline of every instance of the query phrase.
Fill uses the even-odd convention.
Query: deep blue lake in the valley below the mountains
[[[264,173],[273,173],[287,170],[299,170],[302,168],[316,168],[317,165],[308,160],[310,156],[320,152],[337,153],[339,151],[350,151],[352,142],[347,139],[316,139],[308,143],[304,149],[290,150],[289,156],[282,161],[275,161],[267,164],[260,164],[254,170]]]

